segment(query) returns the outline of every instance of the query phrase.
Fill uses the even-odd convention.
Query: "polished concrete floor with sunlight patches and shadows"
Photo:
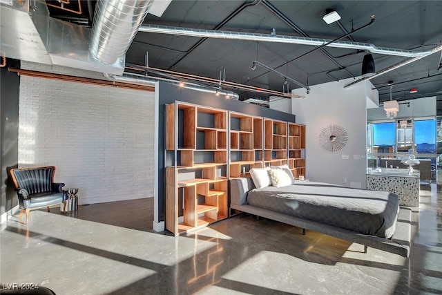
[[[0,283],[56,294],[442,294],[442,191],[421,185],[410,258],[253,216],[174,238],[153,199],[17,215],[2,225]]]

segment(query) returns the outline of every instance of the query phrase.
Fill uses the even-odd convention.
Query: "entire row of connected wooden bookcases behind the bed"
[[[232,215],[229,178],[282,164],[305,175],[303,125],[175,102],[165,137],[166,229],[175,236]]]

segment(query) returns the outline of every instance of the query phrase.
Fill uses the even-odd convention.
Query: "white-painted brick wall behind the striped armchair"
[[[153,92],[22,76],[19,166],[56,166],[79,204],[153,197],[154,103]]]

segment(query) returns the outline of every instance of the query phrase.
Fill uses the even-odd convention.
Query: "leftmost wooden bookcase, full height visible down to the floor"
[[[167,105],[166,229],[177,236],[227,216],[227,111]]]

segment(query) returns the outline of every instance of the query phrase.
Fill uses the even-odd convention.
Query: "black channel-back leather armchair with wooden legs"
[[[14,182],[19,198],[19,219],[26,213],[26,224],[29,222],[29,211],[55,204],[64,203],[66,211],[66,192],[64,183],[54,182],[55,166],[38,168],[10,169],[10,177]]]

